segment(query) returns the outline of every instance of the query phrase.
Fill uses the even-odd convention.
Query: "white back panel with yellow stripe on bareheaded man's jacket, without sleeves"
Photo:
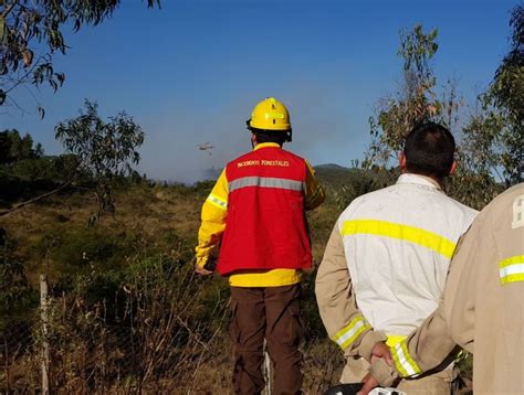
[[[374,329],[407,335],[437,308],[455,244],[475,214],[416,174],[343,212],[337,226],[356,302]]]

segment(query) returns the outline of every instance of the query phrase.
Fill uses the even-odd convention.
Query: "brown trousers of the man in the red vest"
[[[231,287],[231,340],[234,348],[235,394],[260,394],[264,339],[274,365],[274,394],[300,394],[304,338],[301,285],[284,287]]]

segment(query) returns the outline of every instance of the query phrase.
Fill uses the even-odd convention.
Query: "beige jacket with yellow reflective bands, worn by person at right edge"
[[[524,183],[491,202],[460,241],[440,307],[391,349],[397,372],[426,372],[459,344],[475,394],[524,394]],[[384,363],[371,367],[382,385]]]

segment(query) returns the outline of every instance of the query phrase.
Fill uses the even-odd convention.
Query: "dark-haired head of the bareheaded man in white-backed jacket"
[[[411,173],[442,180],[449,175],[453,164],[454,149],[453,135],[442,125],[417,125],[404,146],[406,168]]]

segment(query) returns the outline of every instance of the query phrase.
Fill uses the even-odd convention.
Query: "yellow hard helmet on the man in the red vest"
[[[268,97],[253,108],[248,127],[249,129],[290,131],[290,113],[281,102],[274,97]]]

